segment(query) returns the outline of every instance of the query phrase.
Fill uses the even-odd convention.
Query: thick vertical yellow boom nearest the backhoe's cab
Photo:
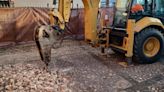
[[[85,40],[97,42],[97,15],[100,0],[82,0],[85,11]]]

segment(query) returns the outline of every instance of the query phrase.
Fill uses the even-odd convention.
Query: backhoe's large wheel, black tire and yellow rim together
[[[151,64],[162,57],[164,37],[155,28],[146,28],[135,36],[134,60],[141,64]]]

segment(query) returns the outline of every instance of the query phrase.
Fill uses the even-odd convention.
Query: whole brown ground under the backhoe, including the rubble
[[[54,74],[48,74],[34,43],[1,48],[0,91],[164,92],[164,59],[126,68],[119,64],[122,61],[121,55],[103,57],[99,48],[68,40],[52,51]]]

